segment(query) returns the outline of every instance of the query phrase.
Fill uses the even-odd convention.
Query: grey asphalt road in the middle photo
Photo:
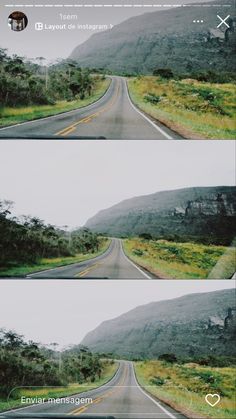
[[[156,277],[139,268],[126,257],[121,240],[112,239],[109,248],[100,256],[84,262],[29,274],[27,278],[151,279]]]

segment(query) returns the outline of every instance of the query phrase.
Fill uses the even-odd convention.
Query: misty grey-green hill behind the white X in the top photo
[[[227,4],[233,5],[233,1]],[[171,68],[177,73],[234,71],[235,31],[228,31],[226,41],[223,28],[216,29],[220,10],[188,6],[144,13],[92,35],[73,50],[70,58],[83,67],[124,74],[150,74],[156,68]],[[194,24],[196,19],[204,22]]]

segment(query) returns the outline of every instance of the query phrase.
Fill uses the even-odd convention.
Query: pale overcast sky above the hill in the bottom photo
[[[0,281],[0,328],[36,342],[81,342],[102,321],[139,305],[233,288],[224,281]],[[20,297],[19,297],[20,296]]]

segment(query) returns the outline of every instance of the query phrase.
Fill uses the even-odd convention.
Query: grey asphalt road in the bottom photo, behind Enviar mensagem
[[[83,397],[88,400],[85,400],[83,405],[45,402],[44,404],[17,409],[15,413],[53,413],[80,416],[81,418],[86,418],[90,415],[97,415],[98,417],[111,416],[115,419],[185,418],[185,416],[177,413],[141,389],[135,377],[133,364],[129,361],[120,361],[117,373],[107,384],[73,397]]]

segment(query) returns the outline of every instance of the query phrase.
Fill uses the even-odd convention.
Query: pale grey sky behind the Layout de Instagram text
[[[198,3],[206,2],[206,0],[198,0]],[[10,0],[0,2],[0,46],[9,49],[10,54],[18,54],[28,58],[45,57],[48,62],[57,58],[67,58],[72,50],[86,39],[88,39],[94,31],[92,30],[57,30],[57,31],[36,31],[35,23],[43,24],[62,24],[79,23],[79,24],[96,24],[96,25],[116,25],[131,16],[143,13],[151,13],[156,8],[147,7],[55,7],[60,4],[145,4],[143,0],[82,0],[82,1],[62,1],[62,0],[22,0],[20,2]],[[150,2],[146,2],[147,4]],[[154,2],[151,2],[155,4]],[[196,0],[185,0],[177,2],[177,4],[196,3]],[[15,7],[15,4],[27,5]],[[52,5],[53,7],[37,7],[37,5]],[[157,0],[156,4],[165,5],[165,0]],[[176,0],[169,0],[168,5],[176,4]],[[6,7],[13,5],[13,7]],[[33,7],[30,7],[33,6]],[[162,7],[160,10],[164,10]],[[28,26],[22,32],[14,32],[8,27],[8,16],[14,11],[24,12],[28,17]],[[77,15],[77,20],[62,20],[60,13],[63,15]],[[184,13],[184,9],[183,9]],[[216,13],[214,9],[214,13]],[[204,17],[204,9],[202,13]]]

